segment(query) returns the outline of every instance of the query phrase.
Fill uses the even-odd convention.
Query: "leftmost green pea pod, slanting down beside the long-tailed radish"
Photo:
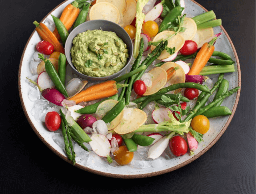
[[[38,54],[38,58],[42,59],[45,63],[45,70],[48,73],[49,77],[51,78],[52,82],[54,83],[56,89],[62,93],[63,95],[68,97],[68,94],[66,92],[65,86],[61,81],[61,78],[58,74],[58,72],[56,71],[55,67],[53,66],[52,62],[50,60],[47,60],[46,58],[44,58],[43,54]]]

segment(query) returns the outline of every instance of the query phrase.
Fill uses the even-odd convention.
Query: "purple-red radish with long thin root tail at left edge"
[[[42,96],[47,99],[49,102],[52,102],[58,106],[62,106],[62,101],[66,99],[62,93],[60,93],[55,88],[46,88],[42,89],[36,82],[26,77],[32,84],[36,85],[40,92],[42,92]]]

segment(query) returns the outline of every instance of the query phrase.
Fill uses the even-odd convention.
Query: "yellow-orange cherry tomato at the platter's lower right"
[[[210,128],[210,122],[207,117],[197,115],[191,121],[191,127],[198,133],[205,134]]]

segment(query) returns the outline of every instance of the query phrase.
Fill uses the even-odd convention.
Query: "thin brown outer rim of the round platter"
[[[67,0],[65,0],[64,2],[66,2]],[[197,4],[198,6],[200,6],[201,8],[203,8],[205,11],[208,11],[207,9],[205,9],[203,6],[201,6],[199,3],[195,2],[194,0],[191,0],[192,2],[194,2],[195,4]],[[56,6],[52,11],[54,11],[55,9],[57,9],[58,7],[60,7],[64,2],[62,2],[61,4],[59,4],[58,6]],[[52,12],[51,11],[51,12]],[[50,13],[51,13],[50,12]],[[48,16],[50,15],[47,14],[43,20]],[[42,20],[42,21],[43,21]],[[41,21],[41,22],[42,22]],[[132,175],[123,175],[123,174],[111,174],[111,173],[106,173],[106,172],[101,172],[101,171],[98,171],[98,170],[93,170],[93,169],[89,169],[87,167],[84,167],[82,165],[79,165],[79,164],[75,164],[74,166],[77,167],[77,168],[80,168],[82,170],[85,170],[85,171],[88,171],[88,172],[91,172],[91,173],[94,173],[94,174],[98,174],[98,175],[102,175],[102,176],[106,176],[106,177],[112,177],[112,178],[124,178],[124,179],[133,179],[133,178],[146,178],[146,177],[152,177],[152,176],[157,176],[157,175],[160,175],[160,174],[164,174],[164,173],[167,173],[167,172],[170,172],[170,171],[173,171],[173,170],[177,170],[181,167],[184,167],[186,166],[187,164],[191,163],[192,161],[194,161],[195,159],[199,158],[201,155],[203,155],[207,150],[209,150],[219,139],[220,137],[223,135],[224,131],[226,130],[227,126],[229,125],[230,121],[232,120],[233,116],[234,116],[234,113],[236,111],[236,108],[237,108],[237,104],[238,104],[238,101],[239,101],[239,97],[240,97],[240,91],[241,91],[241,70],[240,70],[240,64],[239,64],[239,60],[238,60],[238,56],[237,56],[237,53],[236,53],[236,50],[234,48],[234,45],[230,39],[230,37],[228,36],[227,32],[225,31],[224,27],[221,25],[221,28],[222,30],[224,31],[225,35],[227,36],[227,39],[228,41],[230,42],[230,45],[233,49],[233,52],[234,52],[234,55],[235,55],[235,60],[236,60],[236,63],[237,63],[237,70],[238,70],[238,86],[240,86],[240,89],[238,90],[237,92],[237,95],[236,95],[236,100],[235,100],[235,104],[233,106],[233,109],[232,109],[232,115],[229,116],[227,122],[225,123],[223,129],[221,130],[221,132],[217,135],[217,137],[209,144],[207,145],[201,152],[199,152],[198,154],[196,154],[194,157],[192,157],[191,159],[183,162],[182,164],[180,165],[177,165],[175,167],[172,167],[172,168],[169,168],[169,169],[166,169],[166,170],[161,170],[161,171],[158,171],[158,172],[151,172],[151,173],[145,173],[145,174],[132,174]],[[35,132],[35,134],[39,137],[39,139],[47,146],[49,147],[56,155],[58,155],[60,158],[62,158],[64,161],[66,161],[67,163],[69,163],[70,165],[72,165],[72,163],[67,159],[67,157],[63,156],[60,152],[58,152],[56,149],[54,149],[51,145],[49,145],[44,139],[43,137],[39,134],[39,132],[36,130],[35,126],[32,124],[32,121],[30,120],[29,118],[29,115],[25,109],[25,105],[24,105],[24,101],[22,99],[22,94],[21,94],[21,66],[22,66],[22,61],[23,61],[23,57],[24,57],[24,53],[25,53],[25,50],[27,49],[27,46],[32,38],[32,35],[34,34],[35,30],[32,32],[26,46],[25,46],[25,49],[23,50],[23,53],[22,53],[22,56],[21,56],[21,61],[20,61],[20,66],[19,66],[19,74],[18,74],[18,87],[19,87],[19,95],[20,95],[20,100],[21,100],[21,105],[22,105],[22,108],[23,108],[23,111],[25,113],[25,116],[27,118],[27,120],[29,121],[33,131]]]

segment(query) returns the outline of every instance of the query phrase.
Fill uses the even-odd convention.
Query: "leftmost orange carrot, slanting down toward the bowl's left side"
[[[45,24],[38,23],[36,21],[34,21],[33,24],[35,24],[35,26],[36,26],[35,30],[37,31],[39,36],[43,40],[51,43],[53,45],[55,51],[62,52],[63,54],[65,53],[64,48],[61,45],[61,43],[59,42],[59,40],[56,38],[56,36],[53,34],[53,32],[51,30],[49,30],[49,28]]]

